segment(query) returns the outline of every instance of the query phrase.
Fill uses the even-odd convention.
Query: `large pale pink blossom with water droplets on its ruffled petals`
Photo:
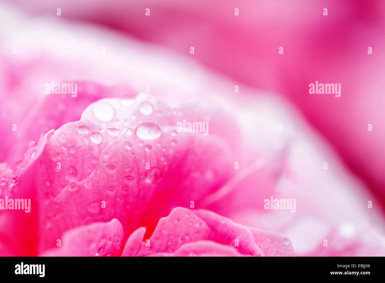
[[[1,5],[0,198],[31,203],[0,210],[0,255],[385,255],[381,201],[288,101],[163,47]],[[45,93],[52,81],[77,96]],[[208,135],[178,132],[184,120]],[[295,212],[266,209],[271,198]]]

